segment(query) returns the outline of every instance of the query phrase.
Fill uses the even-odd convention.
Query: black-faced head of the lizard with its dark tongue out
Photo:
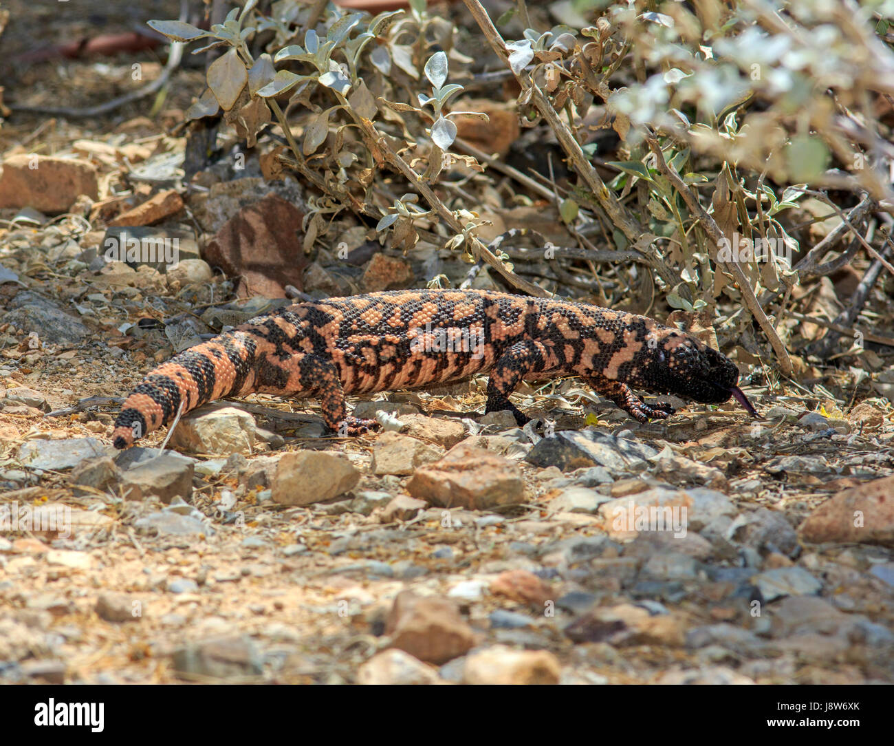
[[[644,360],[633,383],[656,394],[676,394],[704,404],[720,404],[736,397],[746,411],[757,411],[738,387],[738,368],[726,355],[692,335],[656,326],[646,337]]]

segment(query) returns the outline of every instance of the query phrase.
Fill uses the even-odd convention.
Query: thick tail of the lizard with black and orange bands
[[[251,387],[256,339],[237,328],[184,350],[153,369],[122,404],[114,423],[115,448],[127,448],[178,413]]]

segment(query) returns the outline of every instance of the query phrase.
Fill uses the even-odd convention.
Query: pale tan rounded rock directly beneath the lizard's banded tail
[[[237,407],[202,407],[185,415],[173,430],[170,447],[190,454],[251,454],[255,418]]]

